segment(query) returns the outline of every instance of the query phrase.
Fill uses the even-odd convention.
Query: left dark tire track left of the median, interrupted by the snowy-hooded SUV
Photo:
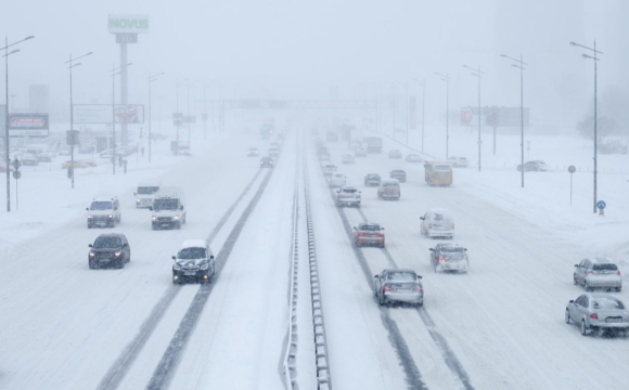
[[[218,223],[214,226],[214,229],[209,233],[209,236],[207,238],[208,242],[211,243],[211,240],[220,232],[220,230],[227,223],[228,219],[233,213],[236,206],[249,192],[249,190],[252,188],[252,186],[254,185],[260,173],[261,169],[258,169],[258,171],[256,172],[256,174],[254,174],[254,178],[249,181],[249,183],[243,190],[241,195],[223,213],[221,219],[218,221]],[[164,316],[164,313],[166,313],[166,310],[170,307],[170,303],[175,300],[177,294],[180,291],[179,287],[181,286],[170,285],[168,286],[166,291],[164,291],[164,295],[162,296],[162,298],[159,298],[159,301],[157,301],[155,307],[153,307],[153,309],[151,310],[151,314],[146,317],[146,320],[144,320],[144,322],[140,326],[140,329],[136,334],[136,337],[133,337],[133,339],[127,344],[127,347],[125,347],[118,359],[116,359],[116,361],[114,362],[114,364],[112,364],[112,366],[110,367],[103,379],[101,379],[101,382],[99,384],[98,387],[99,390],[113,390],[117,389],[118,386],[120,386],[120,382],[131,368],[131,365],[140,354],[140,351],[142,351],[142,349],[146,344],[146,341],[151,338],[151,335],[159,324],[159,321]]]

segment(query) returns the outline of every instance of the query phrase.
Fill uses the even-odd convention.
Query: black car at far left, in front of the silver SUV
[[[131,261],[131,248],[124,234],[101,234],[93,245],[88,246],[91,248],[88,255],[90,270],[101,266],[121,269]]]

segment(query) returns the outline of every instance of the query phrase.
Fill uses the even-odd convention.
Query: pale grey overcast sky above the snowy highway
[[[500,53],[524,55],[525,105],[537,122],[573,126],[589,106],[593,63],[570,40],[598,40],[605,54],[600,88],[627,86],[629,65],[624,0],[5,0],[0,32],[10,42],[28,35],[10,57],[11,94],[26,106],[29,83],[48,83],[55,104],[68,102],[69,53],[93,51],[75,69],[77,103],[111,100],[112,64],[119,47],[107,31],[110,13],[149,14],[151,32],[129,47],[129,102],[145,103],[150,72],[166,113],[174,112],[177,80],[224,81],[229,98],[370,98],[412,78],[427,82],[426,109],[477,104],[477,80],[462,65],[480,65],[484,104],[518,105],[519,77]],[[2,66],[3,69],[3,66]],[[357,86],[364,86],[362,89]],[[208,95],[216,95],[210,87]],[[411,83],[411,93],[413,84]],[[0,81],[4,90],[4,81]],[[184,93],[184,92],[182,92]],[[192,91],[200,99],[201,88]],[[401,92],[398,92],[401,93]],[[183,99],[183,94],[181,95]],[[0,99],[3,101],[3,99]],[[170,108],[172,107],[172,108]],[[168,114],[169,115],[169,114]],[[429,114],[427,114],[429,116]],[[437,115],[434,115],[437,117]]]

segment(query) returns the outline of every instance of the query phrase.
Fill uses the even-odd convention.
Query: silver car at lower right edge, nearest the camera
[[[583,294],[566,306],[566,324],[577,324],[581,335],[601,330],[604,333],[629,333],[629,311],[621,300],[612,294]]]

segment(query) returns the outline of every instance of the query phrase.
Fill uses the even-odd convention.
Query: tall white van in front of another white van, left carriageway
[[[155,193],[153,205],[149,207],[151,227],[181,229],[187,220],[187,204],[183,190],[180,187],[162,187]]]

